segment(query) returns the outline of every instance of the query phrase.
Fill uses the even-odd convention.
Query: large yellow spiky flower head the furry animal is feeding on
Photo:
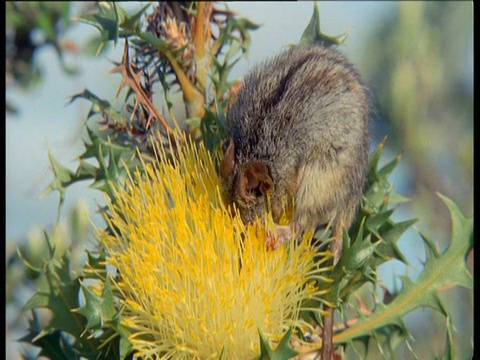
[[[299,318],[305,299],[323,292],[309,241],[267,251],[265,227],[245,226],[222,203],[214,161],[187,141],[180,154],[117,189],[98,231],[136,355],[145,359],[247,359],[260,330],[272,342]],[[271,224],[271,218],[267,223]]]

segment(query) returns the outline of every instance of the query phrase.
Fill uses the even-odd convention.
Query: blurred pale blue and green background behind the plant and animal
[[[33,294],[32,285],[22,282],[17,247],[26,256],[38,257],[44,251],[43,231],[47,230],[53,238],[62,239],[58,246],[78,244],[76,261],[81,262],[85,244],[80,239],[91,228],[86,213],[100,223],[96,209],[103,204],[101,193],[88,183],[67,190],[60,213],[58,193],[40,198],[54,178],[48,151],[74,171],[84,150],[81,139],[91,105],[83,100],[69,104],[70,97],[88,88],[113,101],[121,80],[107,71],[121,60],[123,42],[110,44],[94,56],[98,31],[70,21],[89,11],[92,4],[59,4],[48,9],[56,16],[53,21],[50,18],[55,23],[51,30],[44,25],[48,19],[35,18],[35,22],[29,17],[34,17],[35,8],[12,3],[6,7],[7,359],[21,358],[25,346],[15,340],[28,326],[21,309]],[[122,3],[129,12],[142,5]],[[322,32],[341,35],[350,31],[339,49],[357,66],[372,94],[372,149],[387,136],[384,161],[403,151],[391,181],[398,193],[413,201],[401,206],[394,219],[419,218],[416,227],[443,251],[451,225],[436,193],[451,198],[465,216],[473,215],[473,2],[318,5]],[[261,25],[252,33],[248,61],[240,61],[233,69],[234,78],[297,43],[313,12],[312,2],[233,2],[228,7]],[[31,28],[33,32],[28,31]],[[415,231],[404,235],[400,247],[411,266],[396,261],[386,264],[381,276],[389,288],[399,285],[395,280],[399,275],[415,279],[425,259]],[[473,292],[455,288],[443,292],[441,298],[457,330],[456,358],[469,358]],[[445,320],[440,314],[419,309],[405,321],[416,339],[412,347],[419,358],[442,352]],[[399,358],[411,358],[401,347],[397,353]]]

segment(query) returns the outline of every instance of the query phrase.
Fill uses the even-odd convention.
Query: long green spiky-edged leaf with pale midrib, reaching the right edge
[[[403,326],[402,317],[418,307],[429,306],[445,316],[438,293],[451,286],[473,288],[473,278],[466,266],[466,256],[473,248],[473,218],[465,218],[458,207],[446,197],[439,195],[447,205],[452,217],[452,240],[443,254],[426,240],[426,263],[422,274],[412,282],[402,277],[403,289],[388,304],[377,304],[370,316],[362,316],[351,327],[334,335],[335,343],[346,343],[352,339],[373,335],[388,326]]]

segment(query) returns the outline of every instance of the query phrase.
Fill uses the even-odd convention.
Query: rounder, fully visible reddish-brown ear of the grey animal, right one
[[[239,193],[246,202],[251,200],[251,194],[262,196],[273,191],[273,181],[268,174],[267,165],[261,161],[249,161],[243,166],[240,174]]]

